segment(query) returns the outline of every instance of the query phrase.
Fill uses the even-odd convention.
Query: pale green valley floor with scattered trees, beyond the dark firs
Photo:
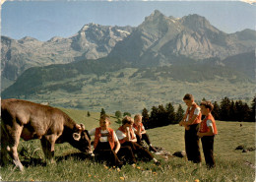
[[[15,97],[34,102],[50,100],[50,104],[54,106],[89,109],[95,112],[99,112],[101,107],[104,107],[106,112],[111,113],[116,110],[136,113],[144,107],[151,110],[152,106],[162,103],[182,103],[182,98],[187,91],[192,93],[196,100],[205,97],[208,100],[220,101],[223,95],[230,99],[253,98],[254,96],[255,83],[230,83],[228,79],[220,75],[216,75],[212,80],[200,80],[201,82],[193,83],[175,80],[168,76],[167,71],[168,69],[164,72],[157,70],[148,73],[147,70],[125,68],[106,72],[100,76],[88,74],[67,77],[58,82],[55,80],[45,82],[39,91],[31,95]],[[124,75],[124,77],[119,78],[119,75]],[[236,80],[236,78],[233,79]],[[37,80],[36,83],[38,83]],[[24,88],[23,83],[21,88]]]

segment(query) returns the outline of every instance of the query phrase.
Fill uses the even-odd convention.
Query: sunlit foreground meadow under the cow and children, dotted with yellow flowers
[[[87,129],[98,126],[99,113],[62,108],[77,123]],[[116,118],[111,127],[117,129]],[[240,126],[242,124],[242,126]],[[207,170],[203,162],[194,164],[184,158],[156,155],[161,165],[139,161],[136,167],[125,165],[121,170],[96,163],[92,158],[72,148],[69,144],[55,147],[56,163],[46,165],[39,140],[21,141],[20,158],[26,166],[24,172],[13,165],[1,168],[3,181],[245,181],[255,180],[255,152],[235,151],[239,145],[255,147],[255,123],[217,121],[219,135],[215,138],[216,168]],[[154,146],[170,153],[184,151],[184,129],[178,125],[148,130]]]

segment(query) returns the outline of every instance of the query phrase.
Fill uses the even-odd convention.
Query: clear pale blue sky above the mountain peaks
[[[227,33],[256,29],[256,6],[239,1],[27,0],[2,4],[1,35],[46,41],[53,36],[70,37],[89,23],[137,27],[155,10],[176,18],[198,14]]]

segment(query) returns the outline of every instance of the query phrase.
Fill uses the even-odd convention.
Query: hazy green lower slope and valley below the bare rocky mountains
[[[241,54],[243,64],[253,54]],[[142,105],[168,100],[180,103],[187,91],[198,98],[219,100],[252,97],[254,77],[246,69],[230,67],[233,57],[201,62],[180,60],[171,66],[134,67],[108,57],[69,64],[30,68],[2,92],[2,98],[17,97],[38,102],[51,100],[56,106],[138,112]],[[239,60],[239,59],[237,59]],[[233,64],[234,65],[234,64]]]

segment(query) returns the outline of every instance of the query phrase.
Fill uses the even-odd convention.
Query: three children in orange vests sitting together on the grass
[[[125,116],[116,132],[109,125],[110,117],[104,114],[99,118],[99,127],[89,131],[90,136],[95,136],[96,161],[106,161],[118,167],[125,163],[135,164],[138,159],[160,164],[152,153],[157,151],[145,131],[141,115],[135,115],[134,119]],[[142,140],[149,145],[149,150],[143,147]]]

